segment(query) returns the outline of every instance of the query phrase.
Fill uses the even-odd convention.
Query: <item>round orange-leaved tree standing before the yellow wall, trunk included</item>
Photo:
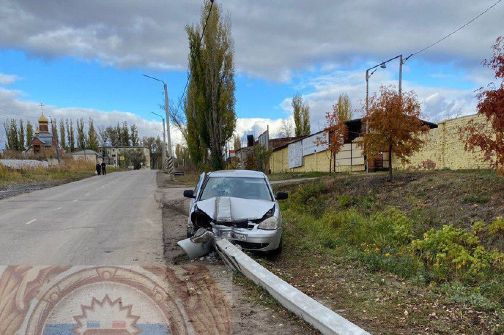
[[[357,144],[364,149],[368,161],[379,152],[388,152],[388,171],[392,179],[392,154],[402,163],[408,163],[408,157],[425,142],[422,134],[429,130],[420,120],[417,94],[409,91],[401,96],[394,86],[381,86],[380,92],[369,98],[367,113],[365,106],[363,110],[363,122],[369,123],[369,130]]]

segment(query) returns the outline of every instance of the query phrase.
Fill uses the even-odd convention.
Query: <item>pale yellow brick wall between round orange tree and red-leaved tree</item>
[[[409,157],[410,163],[402,164],[397,157],[392,156],[392,167],[406,169],[410,166],[422,166],[422,163],[431,160],[436,163],[436,168],[450,169],[477,169],[488,168],[489,164],[483,161],[481,152],[466,152],[464,143],[459,140],[459,127],[463,127],[470,120],[477,123],[485,122],[483,116],[468,115],[453,120],[439,123],[438,128],[430,129],[425,135],[426,142],[422,149]]]

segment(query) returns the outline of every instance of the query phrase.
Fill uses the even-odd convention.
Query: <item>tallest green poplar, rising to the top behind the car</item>
[[[221,6],[215,3],[208,15],[210,6],[206,1],[199,25],[186,27],[192,71],[184,107],[187,145],[194,165],[203,167],[209,152],[209,163],[217,170],[225,166],[223,148],[236,127],[235,51],[230,16],[223,16]]]

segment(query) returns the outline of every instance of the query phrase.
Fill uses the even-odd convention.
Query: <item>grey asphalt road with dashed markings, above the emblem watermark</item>
[[[156,171],[0,200],[0,265],[163,265]]]

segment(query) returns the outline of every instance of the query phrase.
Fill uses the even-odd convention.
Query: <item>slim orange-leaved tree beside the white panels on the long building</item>
[[[338,104],[333,105],[333,109],[326,113],[326,129],[321,137],[317,137],[317,146],[326,146],[329,153],[329,173],[331,173],[333,159],[341,150],[348,137],[348,128],[345,124],[338,108]]]

